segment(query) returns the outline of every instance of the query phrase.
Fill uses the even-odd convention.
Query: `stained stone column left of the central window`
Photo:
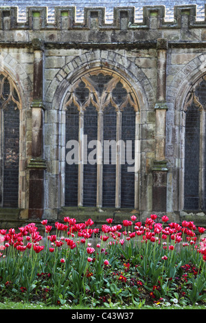
[[[43,159],[43,43],[32,41],[34,49],[34,97],[32,102],[32,159],[30,168],[29,218],[41,219],[44,210],[45,159]]]

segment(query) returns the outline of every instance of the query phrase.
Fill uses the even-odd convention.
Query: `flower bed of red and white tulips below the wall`
[[[45,237],[35,223],[0,230],[0,301],[45,304],[205,304],[205,232],[193,222],[168,223],[151,214],[95,228],[47,220]],[[52,234],[52,230],[55,234]]]

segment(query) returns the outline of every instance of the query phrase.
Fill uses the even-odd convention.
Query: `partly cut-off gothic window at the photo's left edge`
[[[19,108],[16,87],[9,76],[0,74],[0,205],[18,207],[19,198]]]

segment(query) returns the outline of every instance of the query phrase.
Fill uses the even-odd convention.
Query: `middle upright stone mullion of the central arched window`
[[[102,147],[103,147],[103,129],[104,129],[104,116],[103,111],[98,111],[98,165],[97,165],[97,207],[102,208],[102,188],[103,188],[103,164],[102,164]]]

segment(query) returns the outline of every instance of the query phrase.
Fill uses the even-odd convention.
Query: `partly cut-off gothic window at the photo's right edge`
[[[185,104],[184,209],[206,209],[206,78],[198,83]]]

